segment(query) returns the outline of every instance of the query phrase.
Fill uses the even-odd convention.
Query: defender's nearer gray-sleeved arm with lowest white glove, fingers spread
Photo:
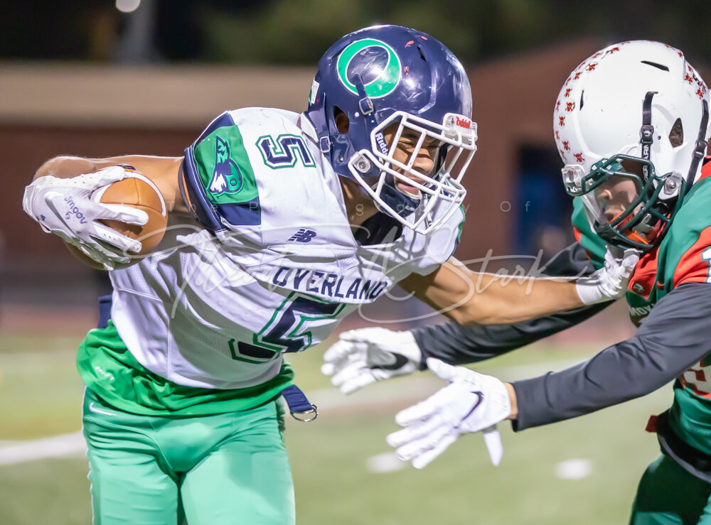
[[[437,359],[428,366],[449,385],[397,414],[405,427],[388,436],[418,468],[461,433],[512,419],[516,431],[582,416],[646,395],[673,381],[708,353],[711,286],[686,283],[661,298],[634,337],[560,372],[505,384]]]

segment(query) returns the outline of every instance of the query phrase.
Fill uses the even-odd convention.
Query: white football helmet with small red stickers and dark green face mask
[[[566,190],[582,197],[597,234],[650,249],[700,175],[709,91],[680,50],[621,42],[573,70],[553,129]]]

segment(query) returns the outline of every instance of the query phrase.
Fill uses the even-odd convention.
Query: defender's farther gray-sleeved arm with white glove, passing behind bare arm
[[[548,276],[589,276],[595,269],[587,251],[571,244],[547,261]],[[611,301],[586,305],[534,320],[506,325],[464,326],[454,322],[396,332],[360,328],[343,332],[324,354],[321,371],[343,394],[375,381],[427,367],[426,358],[449,364],[483,361],[582,323]]]

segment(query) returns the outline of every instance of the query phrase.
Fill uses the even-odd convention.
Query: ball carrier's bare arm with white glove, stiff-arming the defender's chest
[[[616,259],[608,252],[604,268],[591,276],[560,281],[477,273],[451,258],[400,286],[460,325],[517,323],[621,297],[637,260],[635,253]]]

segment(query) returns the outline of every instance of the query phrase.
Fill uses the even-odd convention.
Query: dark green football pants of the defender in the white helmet
[[[711,484],[661,455],[647,467],[632,505],[630,525],[711,524]]]

